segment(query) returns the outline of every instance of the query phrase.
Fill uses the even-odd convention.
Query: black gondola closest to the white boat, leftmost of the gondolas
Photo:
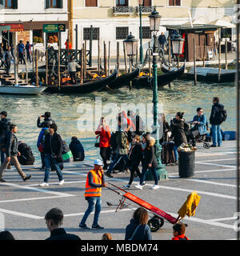
[[[117,70],[114,70],[114,73],[111,74],[109,77],[100,78],[93,82],[85,82],[79,85],[72,85],[72,86],[47,86],[44,92],[56,94],[56,93],[63,93],[63,94],[90,94],[94,91],[102,90],[105,86],[114,82],[117,77]]]

